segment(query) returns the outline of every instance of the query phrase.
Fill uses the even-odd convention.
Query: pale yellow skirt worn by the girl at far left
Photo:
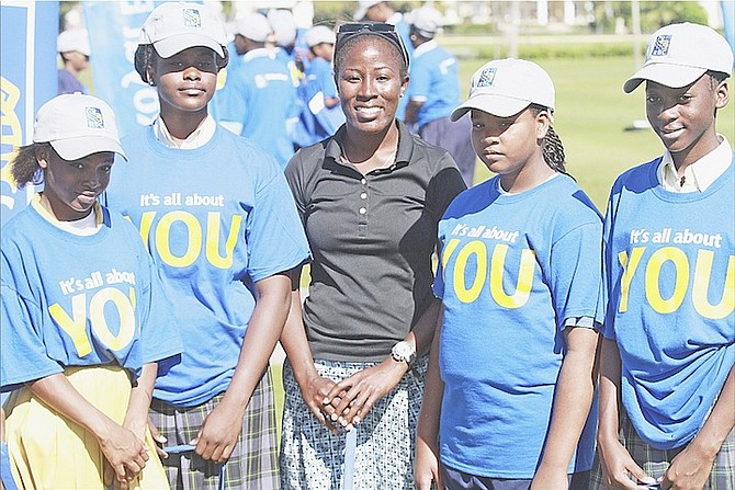
[[[113,421],[125,420],[128,373],[118,366],[71,367],[64,373],[90,403]],[[104,454],[94,435],[37,399],[27,388],[4,404],[5,441],[13,478],[21,489],[106,490]],[[146,430],[149,459],[132,489],[169,489],[156,445]]]

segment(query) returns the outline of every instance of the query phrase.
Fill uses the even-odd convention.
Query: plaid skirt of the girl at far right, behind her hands
[[[625,410],[622,410],[620,423],[620,442],[625,446],[631,457],[646,474],[653,478],[664,476],[671,459],[676,457],[685,446],[674,449],[656,449],[646,444],[635,432]],[[599,452],[595,455],[592,474],[590,477],[590,490],[604,490],[602,482],[602,468],[600,466]],[[731,431],[714,459],[712,472],[704,485],[703,490],[735,490],[735,430]]]

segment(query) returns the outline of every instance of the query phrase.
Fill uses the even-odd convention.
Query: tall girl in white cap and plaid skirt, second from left
[[[123,138],[129,164],[106,198],[139,229],[184,342],[150,408],[157,441],[194,446],[165,459],[171,487],[278,489],[268,363],[289,314],[286,272],[309,251],[280,167],[208,114],[225,43],[206,4],[150,13],[135,68],[160,115]]]

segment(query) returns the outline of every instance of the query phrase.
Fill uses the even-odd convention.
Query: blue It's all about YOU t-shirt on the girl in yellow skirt
[[[181,341],[134,226],[103,213],[92,236],[65,231],[35,201],[2,227],[2,390],[70,366],[176,362]]]

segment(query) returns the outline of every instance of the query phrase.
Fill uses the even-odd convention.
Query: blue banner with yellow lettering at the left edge
[[[25,207],[36,191],[33,185],[18,189],[8,163],[18,147],[31,143],[38,107],[56,95],[58,15],[58,1],[0,3],[0,224]]]

